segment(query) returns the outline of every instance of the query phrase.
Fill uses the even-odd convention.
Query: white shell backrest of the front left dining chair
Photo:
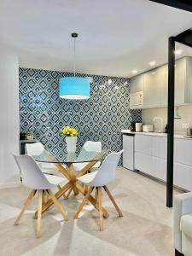
[[[22,174],[22,183],[26,187],[31,189],[49,189],[51,184],[30,155],[14,154],[14,158]]]

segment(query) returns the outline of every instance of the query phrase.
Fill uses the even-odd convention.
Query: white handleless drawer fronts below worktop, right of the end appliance
[[[136,134],[135,169],[166,182],[167,137]],[[175,138],[174,185],[192,191],[192,140]]]

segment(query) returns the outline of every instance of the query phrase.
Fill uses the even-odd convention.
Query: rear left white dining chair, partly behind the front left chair
[[[44,153],[44,145],[42,143],[26,143],[26,154],[28,155],[38,155]],[[38,166],[40,167],[41,171],[45,174],[58,174],[58,170],[52,163],[40,163],[38,162]]]

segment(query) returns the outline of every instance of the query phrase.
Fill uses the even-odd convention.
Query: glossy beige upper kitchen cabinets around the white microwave
[[[131,79],[131,93],[143,91],[143,108],[162,108],[168,101],[168,65]],[[192,103],[192,58],[176,61],[175,105]],[[141,107],[142,108],[142,107]]]

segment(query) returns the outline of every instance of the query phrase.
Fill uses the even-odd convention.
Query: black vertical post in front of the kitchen
[[[172,207],[174,154],[175,38],[169,38],[166,207]]]

